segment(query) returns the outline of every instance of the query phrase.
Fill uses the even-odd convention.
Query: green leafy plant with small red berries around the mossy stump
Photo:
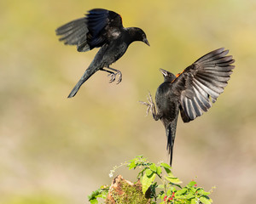
[[[212,199],[208,196],[212,190],[205,191],[202,187],[198,187],[194,179],[189,184],[182,187],[182,181],[172,174],[172,167],[164,162],[155,164],[147,161],[143,156],[137,156],[131,161],[125,161],[118,167],[113,167],[109,177],[113,177],[113,173],[119,167],[128,167],[131,169],[139,169],[137,179],[142,183],[142,195],[148,196],[148,203],[156,204],[211,204]],[[156,181],[158,178],[159,182]],[[90,203],[98,203],[97,198],[104,200],[108,195],[109,186],[102,186],[99,190],[93,191],[88,196]]]

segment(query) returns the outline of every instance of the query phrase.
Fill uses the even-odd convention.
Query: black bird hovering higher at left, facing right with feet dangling
[[[73,20],[57,28],[55,32],[56,35],[61,36],[60,41],[65,44],[77,45],[79,52],[101,47],[68,98],[77,94],[81,85],[99,70],[109,73],[109,82],[115,81],[117,75],[119,75],[117,83],[121,82],[121,71],[115,70],[109,65],[125,54],[131,42],[142,41],[149,46],[146,34],[142,29],[123,27],[119,14],[102,8],[90,10],[84,18]]]

